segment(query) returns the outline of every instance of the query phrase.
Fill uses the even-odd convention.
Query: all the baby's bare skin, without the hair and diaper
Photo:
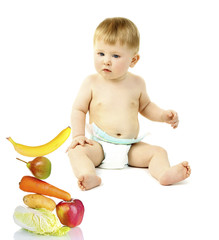
[[[174,110],[163,110],[151,102],[145,81],[128,72],[139,60],[126,45],[108,45],[96,41],[94,62],[97,74],[88,76],[72,108],[72,143],[67,152],[81,190],[101,184],[95,168],[104,159],[101,145],[85,137],[85,119],[95,123],[108,135],[136,138],[139,133],[138,113],[145,118],[166,122],[177,128],[179,119]],[[148,168],[161,185],[185,180],[191,174],[188,162],[171,167],[166,151],[144,142],[135,143],[128,153],[129,165]]]

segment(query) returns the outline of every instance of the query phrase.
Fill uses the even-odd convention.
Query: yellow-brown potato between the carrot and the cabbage
[[[40,194],[28,194],[24,196],[23,201],[30,208],[45,208],[50,211],[56,208],[56,203],[51,198]]]

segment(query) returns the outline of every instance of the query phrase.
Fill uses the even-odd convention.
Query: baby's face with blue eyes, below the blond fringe
[[[123,79],[132,66],[133,57],[133,50],[119,42],[109,45],[104,41],[96,41],[94,44],[94,65],[104,79]]]

